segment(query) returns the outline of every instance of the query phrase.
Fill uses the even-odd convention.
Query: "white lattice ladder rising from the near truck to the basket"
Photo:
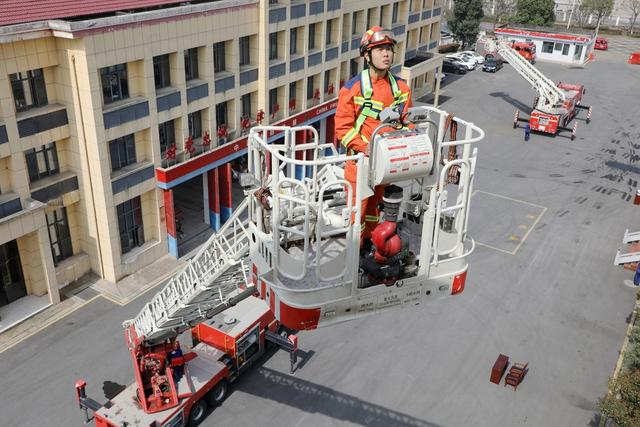
[[[249,283],[249,234],[241,220],[245,199],[187,265],[158,292],[125,328],[134,325],[148,343],[175,337],[207,318],[207,312],[233,305],[232,297]]]

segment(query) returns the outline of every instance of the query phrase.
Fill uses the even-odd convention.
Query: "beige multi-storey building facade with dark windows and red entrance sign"
[[[220,227],[256,123],[333,142],[366,28],[392,29],[414,98],[438,89],[441,0],[106,3],[33,22],[0,12],[0,310],[179,256],[174,191],[193,178]]]

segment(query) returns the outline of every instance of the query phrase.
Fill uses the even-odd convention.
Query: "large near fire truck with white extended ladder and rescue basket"
[[[484,132],[432,107],[387,109],[380,119],[370,157],[338,152],[311,126],[250,130],[245,199],[123,323],[135,381],[106,403],[76,382],[87,422],[197,425],[269,347],[290,353],[293,372],[296,331],[464,290]],[[297,143],[302,132],[312,142]],[[358,166],[355,187],[344,179],[347,161]],[[364,250],[361,200],[379,185],[384,216]],[[193,346],[182,349],[178,337],[189,331]]]

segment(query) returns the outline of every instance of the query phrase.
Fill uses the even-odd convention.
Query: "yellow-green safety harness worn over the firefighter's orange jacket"
[[[387,76],[389,77],[389,83],[391,84],[391,91],[393,92],[393,104],[392,107],[396,105],[400,105],[400,110],[404,109],[404,103],[409,99],[408,93],[403,93],[398,87],[398,83],[396,82],[393,74],[387,72]],[[353,138],[355,138],[358,133],[360,133],[360,128],[367,117],[371,117],[372,119],[378,119],[380,117],[380,113],[385,108],[384,104],[380,101],[376,101],[372,99],[373,96],[373,85],[371,84],[371,75],[369,70],[363,70],[360,73],[360,91],[363,96],[354,96],[353,101],[356,105],[360,107],[360,113],[354,126],[349,129],[349,131],[345,134],[344,138],[342,138],[342,145],[345,148],[348,148],[349,143]],[[364,140],[364,142],[369,142],[364,135],[360,135],[360,137]]]

